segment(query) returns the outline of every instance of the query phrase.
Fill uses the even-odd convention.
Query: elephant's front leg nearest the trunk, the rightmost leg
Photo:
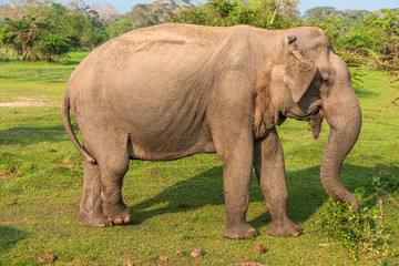
[[[287,216],[288,190],[284,154],[276,129],[255,143],[254,166],[272,216],[268,232],[273,236],[293,236],[301,233]]]

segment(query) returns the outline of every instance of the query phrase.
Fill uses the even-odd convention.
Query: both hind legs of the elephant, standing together
[[[96,164],[84,161],[84,186],[80,222],[88,226],[106,226],[131,221],[122,201],[123,177],[129,168],[127,136],[112,131],[86,134],[85,147]]]

